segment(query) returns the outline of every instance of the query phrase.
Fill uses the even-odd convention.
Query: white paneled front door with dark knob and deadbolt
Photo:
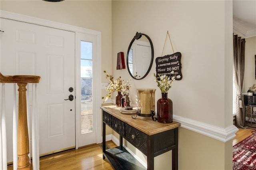
[[[38,84],[40,155],[74,148],[74,32],[2,18],[0,22],[1,30],[4,31],[1,34],[1,73],[42,77]],[[12,93],[13,89],[9,89]],[[74,100],[64,100],[69,95],[73,95]],[[12,100],[12,95],[9,98]],[[12,110],[12,104],[7,105],[6,109]],[[10,115],[7,118],[10,122],[7,134],[12,134]],[[12,152],[12,136],[8,136],[7,140],[7,150]],[[10,161],[12,156],[8,156]]]

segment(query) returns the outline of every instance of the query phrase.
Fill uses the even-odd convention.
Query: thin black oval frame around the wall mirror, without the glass
[[[138,78],[134,77],[134,75],[132,75],[132,73],[130,72],[129,65],[128,65],[128,55],[129,55],[129,51],[130,51],[130,49],[131,49],[131,47],[132,47],[132,43],[133,43],[135,40],[140,39],[142,36],[145,36],[145,37],[148,39],[149,43],[150,43],[150,46],[151,46],[151,61],[150,61],[150,65],[149,65],[149,67],[148,67],[148,71],[146,72],[146,74],[145,74],[143,77],[141,77],[140,79],[138,79]],[[151,67],[152,67],[153,60],[154,60],[154,47],[153,47],[153,43],[152,43],[151,39],[150,39],[149,36],[146,35],[146,34],[142,34],[142,33],[136,32],[136,35],[134,36],[134,38],[133,38],[132,41],[130,42],[130,45],[129,45],[128,51],[127,51],[127,55],[126,55],[126,65],[127,65],[127,69],[128,69],[128,72],[129,72],[130,76],[131,76],[133,79],[135,79],[135,80],[144,79],[144,78],[148,75],[148,73],[149,73],[149,71],[150,71],[150,69],[151,69]]]

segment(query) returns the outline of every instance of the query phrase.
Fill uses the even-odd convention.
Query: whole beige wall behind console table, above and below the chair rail
[[[151,38],[154,59],[161,56],[167,30],[174,52],[182,53],[183,78],[175,81],[168,93],[174,115],[220,128],[231,126],[232,1],[112,1],[112,63],[116,63],[118,52],[127,54],[136,32]],[[171,53],[167,41],[163,55]],[[145,79],[132,79],[133,102],[138,88],[154,88],[156,101],[160,98],[155,72],[154,60]],[[116,70],[113,65],[112,73],[131,79],[127,69]],[[155,168],[170,169],[170,157],[168,152],[155,158]],[[232,141],[221,142],[179,128],[179,169],[232,169]]]

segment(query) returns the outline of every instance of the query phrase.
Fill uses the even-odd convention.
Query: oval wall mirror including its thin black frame
[[[140,80],[148,75],[154,59],[151,39],[142,33],[136,33],[132,39],[126,57],[126,64],[132,78]]]

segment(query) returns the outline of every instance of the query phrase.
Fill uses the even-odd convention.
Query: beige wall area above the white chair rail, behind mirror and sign
[[[224,97],[221,96],[224,96],[227,90],[226,79],[232,88],[232,55],[226,56],[230,61],[227,63],[227,71],[231,73],[229,77],[225,75],[224,67],[225,50],[232,50],[232,44],[228,47],[230,49],[224,48],[224,15],[224,1],[112,1],[112,63],[116,63],[119,51],[127,54],[128,45],[136,32],[142,32],[151,38],[154,59],[159,57],[168,30],[174,51],[182,53],[183,78],[173,83],[168,94],[170,99],[173,99],[174,114],[226,127],[226,106]],[[232,25],[230,31],[232,33]],[[232,40],[232,35],[229,37]],[[171,53],[172,49],[167,41],[163,55]],[[232,51],[230,53],[232,54]],[[127,69],[116,70],[114,66],[112,69],[114,77],[131,79]],[[130,93],[134,94],[133,101],[136,89],[146,87],[156,88],[156,99],[160,98],[160,89],[154,82],[155,69],[154,61],[145,79],[132,79]],[[228,93],[232,94],[231,90],[228,90]],[[218,107],[212,108],[212,105]],[[231,104],[229,107],[232,109]],[[232,121],[228,124],[232,125]]]

